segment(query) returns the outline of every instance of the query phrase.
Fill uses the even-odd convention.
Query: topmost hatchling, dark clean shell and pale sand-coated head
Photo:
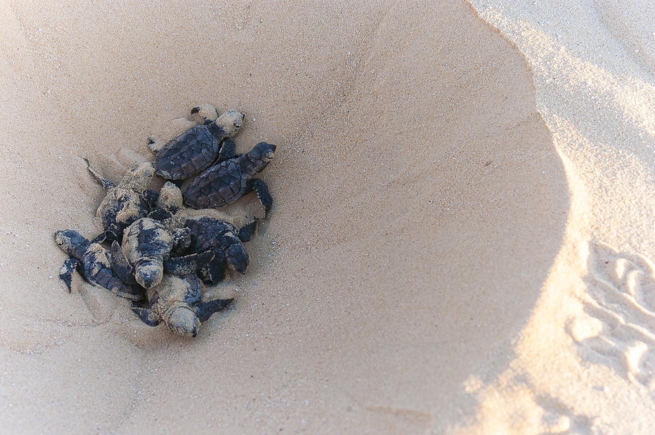
[[[242,113],[227,111],[215,120],[207,119],[205,124],[189,128],[166,144],[151,138],[148,147],[157,152],[157,173],[168,180],[183,180],[199,174],[217,159],[221,162],[233,157],[234,142],[224,139],[235,135],[243,120]]]

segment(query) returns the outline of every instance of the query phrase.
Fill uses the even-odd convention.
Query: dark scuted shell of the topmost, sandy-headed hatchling
[[[192,177],[218,158],[221,144],[207,126],[189,128],[164,145],[155,158],[157,173],[169,180]]]

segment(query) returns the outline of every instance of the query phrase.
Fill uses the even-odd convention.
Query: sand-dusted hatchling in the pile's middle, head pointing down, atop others
[[[112,267],[127,283],[136,281],[145,288],[155,287],[164,272],[173,275],[196,273],[214,258],[214,253],[209,251],[172,256],[188,246],[188,228],[170,232],[162,222],[140,218],[125,231],[122,247],[118,241],[111,245]]]

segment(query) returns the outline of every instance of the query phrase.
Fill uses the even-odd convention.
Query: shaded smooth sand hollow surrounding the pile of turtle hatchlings
[[[32,8],[0,10],[1,427],[425,433],[504,370],[569,191],[525,60],[466,4]],[[52,234],[99,230],[83,157],[119,179],[204,102],[278,145],[276,203],[188,340],[67,294]]]

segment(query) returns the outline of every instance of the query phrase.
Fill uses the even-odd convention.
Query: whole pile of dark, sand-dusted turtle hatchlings
[[[164,323],[176,334],[195,337],[201,322],[232,301],[201,302],[202,285],[219,283],[226,267],[246,273],[249,257],[243,243],[255,233],[257,218],[236,228],[209,216],[185,217],[184,204],[223,207],[255,192],[268,213],[271,195],[255,175],[271,162],[275,145],[260,142],[236,154],[231,137],[240,130],[243,114],[219,116],[213,105],[194,107],[191,114],[202,120],[200,125],[167,143],[149,139],[148,147],[157,154],[154,164],[135,165],[118,184],[104,179],[87,160],[107,192],[96,213],[104,231],[89,240],[63,230],[54,239],[69,255],[59,274],[69,291],[78,270],[86,282],[132,301],[132,311],[145,324]],[[159,193],[148,188],[155,173],[167,180]],[[192,177],[182,192],[182,181]],[[149,301],[148,289],[154,290]]]

